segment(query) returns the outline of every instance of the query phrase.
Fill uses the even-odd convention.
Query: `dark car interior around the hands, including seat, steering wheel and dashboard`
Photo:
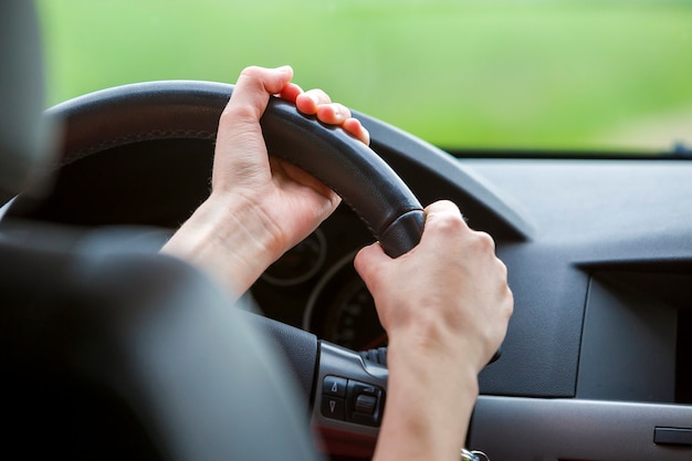
[[[12,102],[0,153],[3,406],[7,440],[28,458],[369,459],[387,336],[353,258],[375,240],[405,253],[422,207],[445,198],[493,237],[515,300],[466,447],[493,461],[692,459],[689,150],[441,149],[355,111],[367,148],[272,101],[270,154],[344,203],[229,310],[211,281],[157,250],[209,192],[233,85],[127,84],[39,116],[28,4],[0,14],[17,45],[3,45],[3,73],[17,72],[0,85]],[[46,145],[56,151],[41,164]]]

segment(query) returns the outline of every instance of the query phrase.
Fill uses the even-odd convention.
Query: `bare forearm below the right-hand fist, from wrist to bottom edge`
[[[423,350],[411,343],[388,348],[387,406],[374,460],[458,461],[478,397],[472,367]],[[457,356],[458,356],[457,352]],[[463,363],[463,362],[462,362]]]

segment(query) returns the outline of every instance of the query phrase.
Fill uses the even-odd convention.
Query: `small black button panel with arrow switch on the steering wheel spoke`
[[[322,383],[321,411],[325,418],[379,427],[385,391],[378,386],[326,376]]]

